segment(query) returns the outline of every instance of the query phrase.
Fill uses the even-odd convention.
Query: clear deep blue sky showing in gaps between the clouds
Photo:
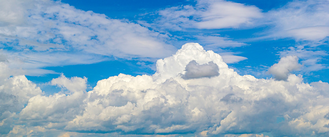
[[[166,8],[170,7],[177,7],[177,6],[183,6],[183,5],[196,5],[197,2],[195,1],[163,1],[163,2],[154,2],[154,1],[61,1],[62,3],[69,4],[70,6],[74,6],[77,9],[83,10],[83,11],[92,11],[95,13],[105,14],[109,18],[113,19],[121,19],[128,22],[134,22],[138,24],[139,22],[147,22],[147,25],[142,24],[142,26],[145,26],[147,29],[150,29],[155,32],[159,32],[161,34],[165,34],[167,39],[166,42],[173,45],[176,49],[179,49],[182,44],[186,42],[198,42],[201,45],[207,45],[207,44],[213,44],[215,41],[206,41],[205,37],[207,36],[219,36],[218,39],[225,39],[225,40],[231,40],[228,42],[237,42],[241,43],[240,46],[237,48],[235,45],[228,45],[225,48],[208,48],[206,50],[214,50],[217,53],[229,53],[232,55],[237,55],[241,57],[246,57],[245,60],[242,58],[240,60],[236,60],[234,62],[228,62],[229,66],[236,69],[239,73],[242,75],[245,74],[252,74],[253,72],[258,73],[260,67],[263,66],[271,66],[275,62],[279,60],[280,57],[285,55],[280,55],[280,52],[287,51],[289,47],[297,47],[298,45],[302,44],[305,45],[305,48],[303,50],[308,50],[310,52],[321,52],[320,55],[317,55],[315,53],[314,56],[306,57],[306,58],[300,58],[301,60],[307,60],[311,58],[320,58],[315,63],[316,65],[321,65],[314,70],[310,71],[301,71],[298,72],[298,74],[304,75],[304,80],[308,82],[314,82],[314,81],[328,81],[328,74],[326,72],[327,70],[327,56],[326,56],[326,40],[325,39],[316,39],[316,40],[304,40],[304,39],[296,39],[297,37],[291,37],[291,36],[270,36],[271,31],[275,31],[275,28],[278,28],[278,25],[275,25],[275,20],[271,19],[272,16],[268,12],[279,12],[277,9],[280,7],[282,10],[286,9],[288,10],[288,6],[284,7],[291,1],[232,1],[236,3],[242,3],[248,6],[256,6],[259,8],[259,12],[261,14],[264,14],[267,17],[260,17],[257,18],[257,20],[253,20],[251,22],[252,26],[243,26],[244,23],[241,23],[241,25],[232,26],[232,27],[219,27],[214,29],[195,29],[195,28],[183,28],[183,30],[177,30],[172,28],[167,29],[161,29],[157,26],[161,27],[161,22],[159,20],[164,20],[161,18],[162,16],[159,15],[159,11],[166,10]],[[289,7],[290,8],[290,7]],[[168,9],[167,9],[168,10]],[[304,14],[308,14],[308,11],[303,11]],[[310,11],[312,12],[312,11]],[[296,13],[297,14],[297,13]],[[192,15],[193,16],[193,15]],[[192,17],[191,16],[191,17]],[[303,15],[301,15],[303,16]],[[279,18],[279,17],[278,17]],[[297,20],[298,21],[298,20]],[[153,27],[148,27],[152,25]],[[304,25],[302,27],[308,27],[309,25]],[[311,25],[312,26],[312,25]],[[314,25],[317,26],[317,25]],[[296,27],[298,28],[298,27]],[[202,38],[197,38],[196,36],[202,35]],[[176,38],[176,37],[183,37],[183,38]],[[216,38],[215,38],[216,39]],[[323,43],[317,45],[316,47],[313,47],[314,42],[321,41]],[[213,43],[212,43],[213,42]],[[226,42],[226,41],[216,41],[216,42]],[[312,48],[310,48],[312,47]],[[172,52],[174,53],[174,52]],[[289,55],[294,55],[296,53],[289,53]],[[170,55],[170,54],[168,54]],[[102,57],[100,57],[102,58]],[[86,62],[87,64],[91,63],[90,67],[93,67],[94,69],[100,69],[97,72],[99,74],[95,75],[88,75],[87,71],[89,66],[86,66],[86,71],[83,71],[84,67],[81,67],[80,65],[74,66],[76,62],[72,62],[72,64],[57,64],[51,67],[44,67],[46,70],[52,70],[56,73],[64,73],[66,71],[72,70],[74,67],[76,69],[79,69],[79,72],[81,73],[77,74],[75,73],[75,76],[88,76],[89,82],[92,85],[95,85],[96,82],[100,79],[103,79],[102,76],[115,76],[117,73],[116,70],[118,68],[124,67],[126,65],[126,62],[133,62],[129,63],[129,66],[125,66],[127,68],[135,68],[131,71],[123,71],[122,73],[130,74],[130,75],[139,75],[139,74],[152,74],[155,72],[154,70],[154,62],[157,58],[154,58],[150,62],[146,63],[153,63],[153,70],[145,66],[141,66],[136,64],[134,61],[131,61],[130,57],[124,57],[120,59],[120,62],[123,62],[122,64],[117,64],[119,66],[111,66],[111,61],[115,60],[115,55],[111,56],[108,55],[104,61],[108,63],[102,64],[102,66],[107,67],[108,71],[105,71],[103,69],[100,69],[100,67],[93,66],[94,63],[97,63],[99,61],[102,61],[102,59],[97,59],[95,61]],[[125,60],[125,59],[129,60]],[[133,60],[137,61],[145,61],[144,59],[139,59],[138,57],[133,57]],[[301,61],[300,60],[300,61]],[[137,62],[136,61],[136,62]],[[116,62],[116,61],[114,61]],[[77,62],[78,64],[85,64],[83,62]],[[59,67],[57,67],[59,66]],[[246,66],[251,66],[248,71],[246,70]],[[307,66],[306,66],[307,67]],[[312,67],[312,66],[310,66]],[[128,69],[129,70],[129,69]],[[302,69],[303,70],[303,69]],[[263,70],[266,71],[266,68]],[[262,72],[262,75],[256,76],[257,78],[270,78],[271,75],[266,74]],[[46,80],[50,80],[52,78],[55,78],[56,75],[39,75],[36,74],[38,77],[30,77],[30,79],[34,82],[46,82]],[[66,75],[74,76],[72,73],[67,72]],[[45,78],[40,78],[45,77]],[[98,77],[97,77],[98,76]],[[48,78],[47,78],[48,77]],[[106,78],[105,77],[105,78]]]

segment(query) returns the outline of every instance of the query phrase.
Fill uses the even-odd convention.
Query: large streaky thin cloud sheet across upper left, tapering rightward
[[[1,2],[0,48],[10,47],[5,52],[11,53],[17,59],[13,63],[20,63],[18,67],[27,72],[46,66],[96,63],[112,57],[158,59],[176,51],[165,42],[166,34],[60,1]]]

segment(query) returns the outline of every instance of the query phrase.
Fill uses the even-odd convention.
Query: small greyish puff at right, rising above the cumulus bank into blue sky
[[[299,70],[301,66],[302,65],[298,63],[297,56],[286,56],[281,58],[278,63],[273,64],[268,72],[272,74],[276,80],[287,80],[289,73]]]

